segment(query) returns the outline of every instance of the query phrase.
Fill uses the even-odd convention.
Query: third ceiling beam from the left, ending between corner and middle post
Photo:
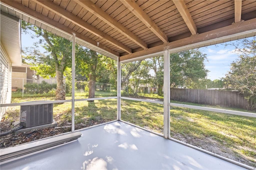
[[[114,29],[118,30],[120,33],[125,35],[127,38],[131,39],[136,44],[140,45],[142,48],[146,49],[147,44],[142,41],[140,38],[138,38],[136,35],[134,35],[131,31],[129,31],[127,28],[125,28],[121,23],[116,21],[114,18],[109,16],[105,11],[103,11],[101,8],[99,8],[97,5],[95,5],[93,2],[87,0],[87,1],[81,1],[81,0],[75,0],[76,3],[81,5],[83,8],[90,11],[93,15],[100,18],[102,21],[106,22],[108,25],[113,27]]]

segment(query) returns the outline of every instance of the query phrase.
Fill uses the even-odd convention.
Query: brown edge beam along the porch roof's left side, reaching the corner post
[[[7,5],[8,7],[10,8],[14,8],[15,10],[21,12],[21,13],[24,13],[32,18],[36,18],[37,20],[41,21],[42,23],[46,23],[47,25],[50,25],[54,28],[57,28],[57,29],[60,29],[68,34],[71,34],[71,35],[75,35],[77,38],[81,39],[81,40],[84,40],[94,46],[97,46],[99,48],[101,48],[102,50],[104,51],[107,51],[113,55],[116,55],[116,56],[120,56],[120,54],[96,41],[93,41],[92,39],[88,38],[87,36],[83,35],[83,34],[80,34],[79,32],[77,31],[74,31],[72,30],[71,28],[68,28],[64,25],[62,25],[61,23],[51,19],[51,18],[48,18],[38,12],[36,12],[35,10],[29,8],[29,7],[26,7],[16,1],[12,1],[12,0],[9,0],[9,1],[1,1],[1,3]]]

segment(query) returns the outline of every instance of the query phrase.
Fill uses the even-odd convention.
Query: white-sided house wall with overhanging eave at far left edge
[[[0,98],[1,104],[11,103],[12,64],[21,65],[20,21],[1,11],[1,58],[0,58]],[[1,107],[2,119],[7,107]]]

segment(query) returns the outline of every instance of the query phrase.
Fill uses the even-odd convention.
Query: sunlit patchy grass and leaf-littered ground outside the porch
[[[77,94],[77,93],[76,93]],[[97,97],[108,96],[96,92]],[[151,94],[154,100],[157,95]],[[80,94],[76,99],[86,98]],[[141,97],[143,98],[143,96]],[[67,96],[66,100],[71,99]],[[13,97],[12,103],[54,100],[54,97]],[[181,104],[222,108],[194,103]],[[75,102],[75,129],[90,127],[116,119],[116,99]],[[1,120],[1,128],[13,126],[19,120],[20,106],[9,107]],[[237,108],[229,110],[246,111]],[[58,128],[37,129],[1,137],[1,148],[71,131],[71,102],[54,104],[54,120]],[[163,133],[163,105],[132,100],[121,100],[121,119],[143,128]],[[170,108],[171,137],[256,167],[256,118],[202,111],[190,108]]]

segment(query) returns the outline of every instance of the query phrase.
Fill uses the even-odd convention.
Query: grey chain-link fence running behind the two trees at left
[[[72,83],[63,80],[66,96],[71,96]],[[56,79],[12,78],[12,97],[54,97],[57,88]],[[89,82],[75,81],[75,96],[87,96]],[[108,83],[95,83],[95,96],[115,96],[116,87]]]

